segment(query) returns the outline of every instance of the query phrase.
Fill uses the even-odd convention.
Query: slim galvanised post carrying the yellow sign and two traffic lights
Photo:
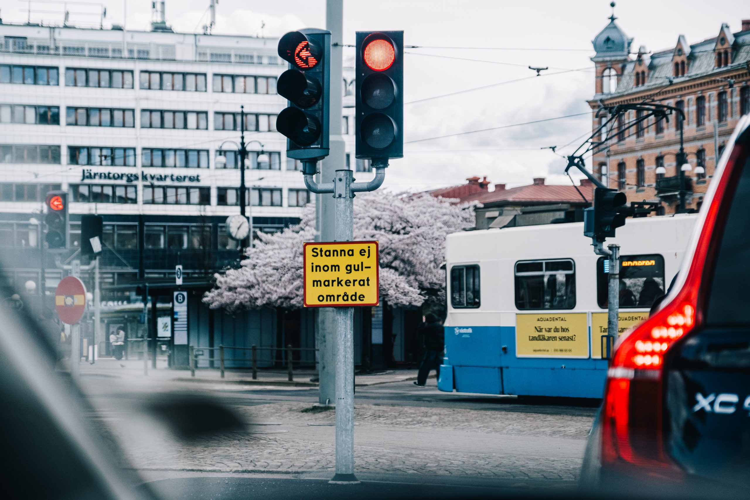
[[[354,193],[351,170],[334,178],[335,241],[351,241]],[[334,483],[359,483],[354,475],[354,308],[336,308],[336,474]]]

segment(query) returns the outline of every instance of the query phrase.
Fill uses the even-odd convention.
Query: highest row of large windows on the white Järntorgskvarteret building
[[[46,66],[0,64],[0,83],[59,85],[59,69]],[[133,88],[132,70],[65,68],[65,86]],[[145,71],[139,73],[139,87],[149,90],[206,91],[205,73]],[[275,94],[274,76],[214,75],[214,92]]]

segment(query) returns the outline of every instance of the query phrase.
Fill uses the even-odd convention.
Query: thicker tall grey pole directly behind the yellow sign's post
[[[320,162],[320,179],[322,183],[332,182],[338,169],[347,165],[346,143],[341,136],[341,81],[342,62],[344,57],[344,0],[326,0],[326,29],[331,31],[331,82],[332,92],[329,97],[329,156]],[[334,241],[335,239],[335,202],[329,194],[318,194],[316,202],[317,241]],[[336,400],[336,313],[332,307],[317,308],[315,332],[318,351],[318,403],[325,405]]]

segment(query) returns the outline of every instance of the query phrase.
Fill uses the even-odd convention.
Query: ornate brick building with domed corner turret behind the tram
[[[615,19],[612,15],[592,42],[592,130],[607,119],[596,116],[601,107],[644,100],[683,109],[685,121],[675,115],[668,122],[651,118],[624,130],[639,118],[638,112],[626,112],[610,127],[609,140],[604,141],[606,134],[598,137],[603,142],[594,149],[592,169],[604,184],[624,191],[628,201],[661,202],[667,214],[679,206],[682,169],[685,208],[700,208],[717,156],[739,117],[750,113],[750,20],[742,20],[735,33],[724,23],[714,37],[697,43],[688,44],[680,34],[668,49],[647,52],[640,46],[632,52],[632,38]],[[680,126],[689,169],[676,161]]]

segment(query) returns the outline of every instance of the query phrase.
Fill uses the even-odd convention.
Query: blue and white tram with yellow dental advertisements
[[[607,238],[620,245],[620,334],[669,286],[696,220],[628,219]],[[583,223],[448,235],[440,391],[601,398],[608,268]]]

